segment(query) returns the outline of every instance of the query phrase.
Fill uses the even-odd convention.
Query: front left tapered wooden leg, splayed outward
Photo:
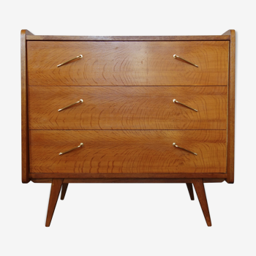
[[[62,182],[63,182],[63,178],[53,178],[53,182],[50,188],[50,199],[48,204],[48,212],[47,212],[45,227],[50,226],[50,222],[51,222],[51,219],[53,218],[53,213],[59,197],[59,192],[61,192]]]

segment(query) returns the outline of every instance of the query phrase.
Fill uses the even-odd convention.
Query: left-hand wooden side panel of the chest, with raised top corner
[[[26,69],[26,35],[31,34],[26,29],[20,31],[20,68],[21,68],[21,181],[29,182],[29,120],[27,97]]]

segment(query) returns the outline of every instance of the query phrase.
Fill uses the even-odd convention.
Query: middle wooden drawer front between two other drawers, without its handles
[[[83,99],[83,103],[67,105]],[[184,103],[192,110],[173,99]],[[30,86],[29,129],[226,129],[227,86]]]

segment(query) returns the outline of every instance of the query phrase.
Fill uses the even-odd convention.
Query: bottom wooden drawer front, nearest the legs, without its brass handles
[[[33,130],[29,149],[31,173],[226,172],[224,130]]]

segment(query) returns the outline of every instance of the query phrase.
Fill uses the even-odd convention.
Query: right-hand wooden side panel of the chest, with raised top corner
[[[230,35],[230,54],[228,72],[228,118],[227,118],[227,183],[234,183],[235,160],[235,91],[236,91],[236,31],[225,32]]]

